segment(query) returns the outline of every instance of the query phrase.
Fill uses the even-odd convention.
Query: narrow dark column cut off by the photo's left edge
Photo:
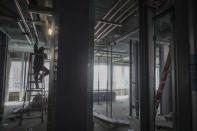
[[[3,119],[8,39],[0,32],[0,121]]]

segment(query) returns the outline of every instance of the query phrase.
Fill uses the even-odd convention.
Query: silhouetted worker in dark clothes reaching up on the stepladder
[[[36,88],[39,88],[39,81],[42,81],[42,79],[49,74],[49,70],[44,66],[44,59],[47,58],[47,55],[44,53],[45,48],[40,47],[38,49],[38,42],[34,45],[34,79],[35,79],[35,85]],[[40,73],[42,71],[42,73]]]

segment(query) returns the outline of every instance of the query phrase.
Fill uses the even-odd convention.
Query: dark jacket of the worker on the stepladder
[[[37,44],[34,46],[34,72],[39,72],[44,66],[44,59],[47,57],[42,51],[38,50]]]

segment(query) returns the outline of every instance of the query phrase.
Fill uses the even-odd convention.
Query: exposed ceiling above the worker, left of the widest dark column
[[[51,0],[0,1],[0,30],[10,38],[10,51],[33,51],[36,39],[40,46],[48,47],[50,17],[32,13],[30,7],[51,7]]]

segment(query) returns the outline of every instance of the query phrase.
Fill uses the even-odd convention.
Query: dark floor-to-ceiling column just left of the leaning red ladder
[[[153,12],[148,5],[150,1],[139,0],[140,23],[140,128],[141,131],[155,130],[155,81],[154,81],[154,42]]]

